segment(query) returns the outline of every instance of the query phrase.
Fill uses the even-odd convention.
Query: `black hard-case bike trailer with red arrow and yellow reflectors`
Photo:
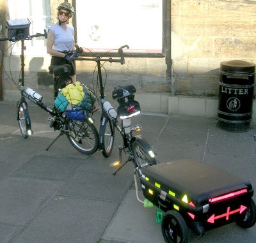
[[[164,212],[179,212],[198,236],[234,221],[243,228],[255,224],[253,188],[248,180],[191,159],[141,168],[140,173],[145,198]]]

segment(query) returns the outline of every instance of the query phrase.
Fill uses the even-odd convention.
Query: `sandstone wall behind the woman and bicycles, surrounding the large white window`
[[[52,1],[53,22],[56,3]],[[106,91],[110,94],[115,85],[134,84],[144,97],[141,101],[148,97],[146,111],[152,111],[157,99],[164,108],[156,112],[165,113],[170,113],[168,97],[217,98],[222,61],[241,59],[256,63],[255,27],[256,1],[166,0],[166,57],[126,58],[122,66],[105,64]],[[49,92],[52,78],[45,71],[51,58],[47,54],[43,58],[40,69],[29,70],[33,57],[27,56],[25,75],[27,84],[39,92]],[[19,57],[11,60],[12,75],[19,78]],[[8,56],[4,57],[7,73],[9,61]],[[77,80],[92,85],[94,68],[95,64],[90,62],[77,63]],[[3,87],[4,97],[12,98],[16,87],[6,75]]]

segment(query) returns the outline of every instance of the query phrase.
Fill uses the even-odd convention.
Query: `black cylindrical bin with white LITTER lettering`
[[[220,64],[218,126],[243,132],[252,121],[255,64],[241,60]]]

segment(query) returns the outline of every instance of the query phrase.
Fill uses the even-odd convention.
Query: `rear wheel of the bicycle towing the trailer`
[[[152,149],[143,138],[132,142],[132,154],[136,166],[143,168],[156,165],[156,159],[150,155],[150,152]]]

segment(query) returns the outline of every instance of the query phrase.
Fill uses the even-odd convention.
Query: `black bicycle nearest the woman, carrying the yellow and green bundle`
[[[47,119],[48,122],[51,122],[50,127],[54,130],[59,130],[60,135],[58,135],[54,141],[49,145],[51,145],[63,134],[67,135],[68,140],[79,152],[83,154],[92,154],[97,151],[98,148],[98,140],[99,134],[97,129],[95,128],[91,117],[88,114],[93,114],[93,112],[97,111],[97,109],[93,109],[89,111],[82,111],[84,113],[83,121],[78,121],[77,117],[70,118],[67,113],[61,112],[57,108],[51,108],[42,103],[42,96],[37,94],[35,91],[31,89],[26,89],[24,87],[24,41],[31,40],[33,37],[44,36],[47,38],[47,33],[44,30],[44,34],[37,33],[32,36],[15,36],[13,38],[0,38],[0,41],[21,41],[21,71],[19,83],[16,84],[20,91],[20,99],[17,102],[17,121],[19,122],[19,128],[22,136],[24,138],[28,138],[29,135],[33,134],[31,129],[31,119],[29,116],[28,103],[26,99],[29,99],[32,103],[35,103],[38,107],[44,109],[48,112],[51,117]],[[14,82],[14,80],[13,80]],[[81,119],[81,117],[79,117]],[[46,150],[49,149],[47,147]]]

